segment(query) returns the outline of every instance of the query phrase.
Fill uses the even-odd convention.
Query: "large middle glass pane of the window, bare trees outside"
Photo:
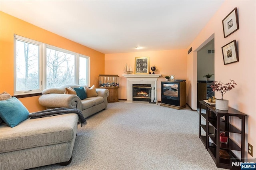
[[[75,83],[75,55],[46,49],[46,88]]]

